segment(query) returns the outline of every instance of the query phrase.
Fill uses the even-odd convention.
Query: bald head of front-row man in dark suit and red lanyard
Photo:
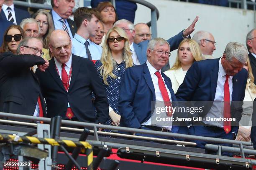
[[[49,49],[60,63],[69,61],[71,55],[71,40],[64,30],[55,30],[51,33]]]

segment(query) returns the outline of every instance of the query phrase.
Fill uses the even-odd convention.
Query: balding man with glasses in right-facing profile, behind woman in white
[[[192,39],[195,40],[200,46],[203,59],[213,58],[212,53],[214,50],[216,50],[216,42],[210,32],[198,31],[194,34]]]

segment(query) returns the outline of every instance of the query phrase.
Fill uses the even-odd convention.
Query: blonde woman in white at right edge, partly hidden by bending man
[[[240,126],[236,140],[251,141],[251,116],[253,109],[253,100],[256,98],[256,85],[254,82],[253,73],[249,58],[243,66],[248,71],[248,79],[246,85],[246,92],[243,99],[243,113],[240,120]]]

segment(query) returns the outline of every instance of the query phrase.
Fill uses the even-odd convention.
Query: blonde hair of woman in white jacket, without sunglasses
[[[191,51],[192,56],[194,57],[195,61],[202,60],[202,53],[201,53],[200,47],[197,44],[197,42],[195,40],[192,40],[192,39],[184,39],[179,44],[179,47],[178,47],[178,50],[177,50],[176,61],[175,61],[174,65],[172,66],[172,68],[170,70],[178,70],[181,67],[181,62],[179,61],[179,50],[180,50],[181,45],[185,42],[188,43],[188,45],[190,47],[190,51]]]

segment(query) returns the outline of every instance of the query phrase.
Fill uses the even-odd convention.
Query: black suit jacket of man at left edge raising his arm
[[[0,111],[33,116],[38,96],[45,112],[38,77],[30,70],[45,61],[36,55],[0,55]]]

